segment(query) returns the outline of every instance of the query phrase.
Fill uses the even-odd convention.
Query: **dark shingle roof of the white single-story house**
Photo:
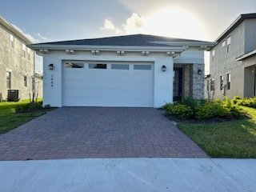
[[[156,42],[202,42],[182,38],[166,38],[149,34],[131,34],[107,38],[88,38],[63,42],[44,42],[34,45],[58,45],[58,46],[166,46]]]

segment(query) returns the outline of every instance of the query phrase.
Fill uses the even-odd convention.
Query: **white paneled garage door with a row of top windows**
[[[63,106],[144,106],[154,103],[151,63],[63,63]]]

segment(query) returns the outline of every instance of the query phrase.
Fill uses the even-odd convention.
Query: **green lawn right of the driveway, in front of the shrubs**
[[[256,158],[256,109],[242,107],[251,119],[217,123],[178,123],[213,158]]]

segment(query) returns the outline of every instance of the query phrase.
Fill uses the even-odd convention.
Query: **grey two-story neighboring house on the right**
[[[241,14],[215,42],[206,79],[210,94],[214,98],[255,96],[256,14]]]

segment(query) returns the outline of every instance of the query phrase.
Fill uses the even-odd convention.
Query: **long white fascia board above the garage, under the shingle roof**
[[[184,46],[83,46],[83,45],[49,45],[49,44],[31,44],[29,47],[33,50],[105,50],[105,51],[142,51],[153,52],[182,52],[187,49]]]

